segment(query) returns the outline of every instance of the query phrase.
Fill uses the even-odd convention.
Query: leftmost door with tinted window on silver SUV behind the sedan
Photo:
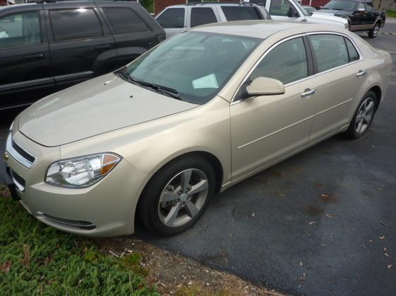
[[[187,13],[184,7],[166,8],[156,17],[156,21],[166,32],[166,38],[187,29]]]

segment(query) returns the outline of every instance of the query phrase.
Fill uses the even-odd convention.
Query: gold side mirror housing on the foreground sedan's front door
[[[268,77],[257,77],[246,86],[245,98],[252,96],[273,96],[285,94],[285,86],[279,80]]]

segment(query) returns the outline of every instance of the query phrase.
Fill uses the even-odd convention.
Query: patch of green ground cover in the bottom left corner
[[[0,185],[0,295],[159,295],[140,254],[103,255],[92,240],[44,226]]]

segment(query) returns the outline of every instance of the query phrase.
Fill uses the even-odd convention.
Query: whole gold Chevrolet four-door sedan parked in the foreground
[[[334,27],[197,27],[18,115],[8,186],[62,231],[125,235],[138,217],[174,235],[216,193],[334,134],[363,136],[391,63]]]

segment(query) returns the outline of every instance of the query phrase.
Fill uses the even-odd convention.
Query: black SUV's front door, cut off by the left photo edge
[[[42,5],[0,16],[0,109],[25,105],[54,86]]]

